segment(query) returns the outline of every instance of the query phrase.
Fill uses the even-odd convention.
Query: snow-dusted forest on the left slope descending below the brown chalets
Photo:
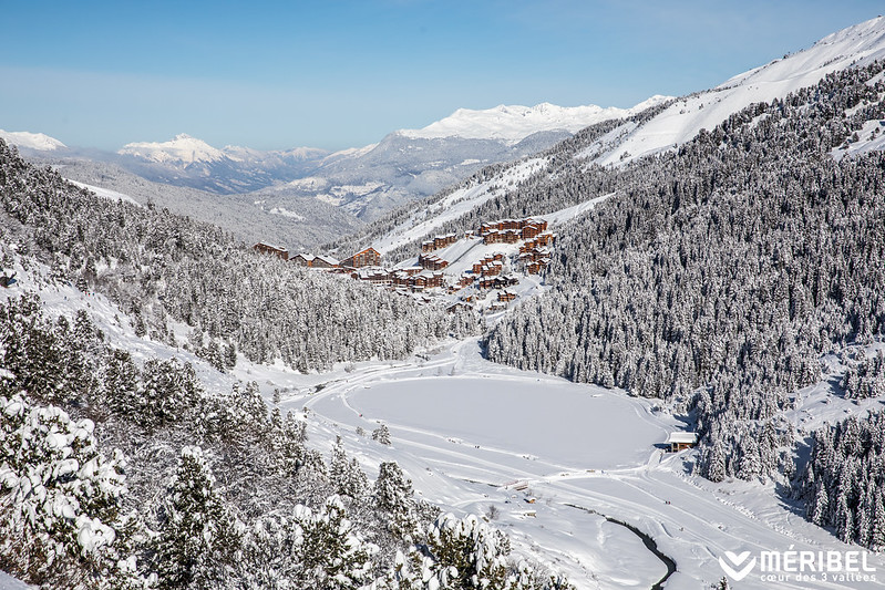
[[[328,369],[401,358],[476,329],[470,315],[257,256],[214,226],[96,197],[6,144],[0,198],[3,237],[51,265],[53,278],[106,293],[142,333],[172,345],[168,322],[186,323],[191,344],[212,358],[230,349],[231,361],[238,351],[256,362]]]

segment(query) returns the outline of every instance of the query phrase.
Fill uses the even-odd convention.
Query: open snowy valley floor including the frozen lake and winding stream
[[[38,290],[53,315],[71,319],[85,309],[111,343],[138,362],[178,356],[194,364],[209,391],[229,390],[236,379],[255,380],[272,404],[274,390],[280,390],[284,413],[309,410],[311,446],[328,454],[341,436],[370,477],[380,462],[397,460],[416,493],[444,510],[487,515],[494,507],[492,525],[511,537],[517,555],[564,571],[580,590],[646,589],[666,573],[636,535],[601,515],[651,536],[676,561],[666,586],[670,590],[709,588],[723,576],[718,559],[726,551],[857,550],[805,521],[772,485],[712,484],[688,475],[693,452],[662,455],[656,446],[681,428],[658,410],[658,400],[495,365],[482,359],[476,340],[325,374],[255,365],[240,356],[233,374],[223,374],[188,352],[137,338],[125,313],[103,296],[40,279],[49,272],[42,265],[12,270],[20,282],[1,290],[0,298]],[[186,339],[187,327],[174,330]],[[837,372],[835,359],[830,361]],[[801,392],[800,411],[811,416],[807,425],[882,403],[825,404],[821,394],[816,389]],[[389,427],[391,446],[364,434],[379,423]],[[872,555],[868,562],[881,576],[885,558]],[[771,582],[757,571],[734,584],[760,590],[846,587],[881,588],[881,582]],[[0,576],[0,588],[27,587]]]

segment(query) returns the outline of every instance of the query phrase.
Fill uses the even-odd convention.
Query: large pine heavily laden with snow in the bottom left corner
[[[122,514],[125,458],[91,421],[0,396],[0,561],[52,588],[136,588]]]

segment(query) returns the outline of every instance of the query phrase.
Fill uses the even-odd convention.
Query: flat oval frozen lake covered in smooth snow
[[[370,420],[576,468],[632,466],[666,439],[667,429],[645,406],[587,390],[565,382],[441,376],[360,389],[348,401]]]

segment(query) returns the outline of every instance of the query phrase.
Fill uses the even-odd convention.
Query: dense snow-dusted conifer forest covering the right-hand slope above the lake
[[[622,196],[562,229],[553,291],[488,333],[488,356],[676,400],[694,412],[713,480],[791,474],[794,433],[776,417],[790,393],[820,380],[823,353],[885,328],[885,225],[871,214],[885,207],[885,157],[833,157],[885,117],[882,70],[752,105],[678,151],[569,175],[576,190],[601,176]],[[877,362],[850,371],[848,397],[881,387]]]

